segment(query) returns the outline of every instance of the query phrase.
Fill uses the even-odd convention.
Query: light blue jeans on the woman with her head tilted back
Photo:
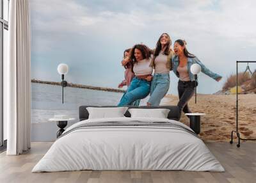
[[[150,103],[151,106],[159,106],[164,95],[166,95],[166,93],[168,92],[169,86],[170,86],[169,73],[154,74],[154,77],[151,83],[150,98],[148,99],[148,103]]]

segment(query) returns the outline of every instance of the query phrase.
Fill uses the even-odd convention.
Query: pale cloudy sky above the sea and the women
[[[31,77],[60,81],[58,64],[67,63],[68,82],[116,88],[124,50],[141,42],[154,48],[166,32],[223,76],[218,83],[199,75],[198,92],[214,93],[236,72],[236,60],[256,60],[255,7],[253,0],[31,0]],[[169,93],[177,93],[173,73]]]

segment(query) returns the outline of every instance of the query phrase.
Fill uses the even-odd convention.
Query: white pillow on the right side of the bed
[[[128,109],[131,118],[150,117],[150,118],[167,118],[170,109]]]

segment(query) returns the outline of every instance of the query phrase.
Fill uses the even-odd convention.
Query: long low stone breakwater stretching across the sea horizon
[[[31,79],[31,83],[41,83],[41,84],[52,84],[52,85],[59,85],[61,86],[61,82],[54,82],[54,81],[41,81],[38,79]],[[100,91],[106,91],[106,92],[118,92],[118,93],[124,93],[124,90],[115,89],[115,88],[106,88],[106,87],[99,87],[99,86],[88,86],[84,84],[75,84],[75,83],[68,83],[68,87],[72,88],[84,88],[84,89],[90,89],[90,90],[100,90]]]

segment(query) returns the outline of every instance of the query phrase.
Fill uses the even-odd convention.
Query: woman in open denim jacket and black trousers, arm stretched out
[[[175,56],[172,58],[172,70],[179,77],[179,102],[177,106],[179,107],[181,116],[181,111],[191,113],[188,107],[188,101],[195,93],[195,84],[198,84],[195,76],[190,71],[191,65],[198,63],[201,66],[201,71],[216,81],[220,81],[221,76],[206,68],[195,55],[189,53],[184,40],[176,40],[173,49]]]

